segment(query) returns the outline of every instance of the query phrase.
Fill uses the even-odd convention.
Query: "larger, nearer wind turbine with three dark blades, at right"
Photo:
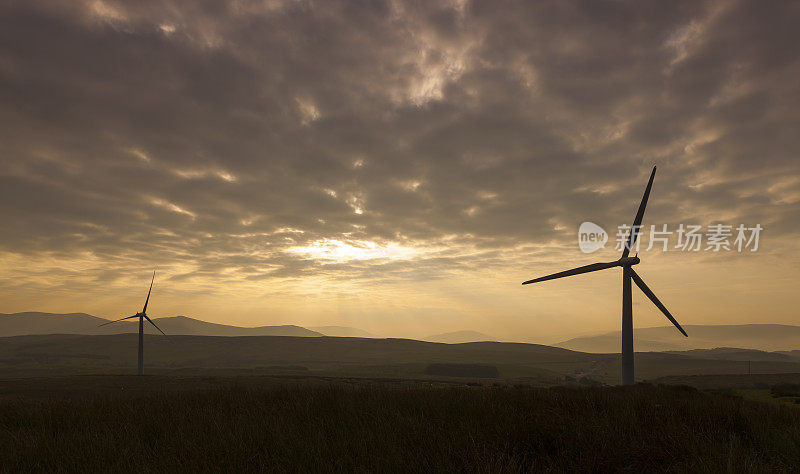
[[[669,313],[669,310],[659,301],[656,297],[655,293],[653,293],[650,288],[644,283],[642,277],[640,277],[635,271],[633,271],[633,266],[640,262],[638,255],[629,257],[628,254],[630,253],[633,244],[636,242],[636,237],[639,234],[639,228],[642,225],[642,218],[644,217],[644,208],[647,206],[647,198],[650,197],[650,188],[653,187],[653,178],[656,176],[656,167],[653,166],[653,172],[650,174],[650,181],[647,182],[647,188],[644,190],[644,196],[642,197],[642,202],[639,204],[639,210],[636,212],[636,218],[633,220],[633,227],[631,227],[631,232],[628,235],[628,240],[625,242],[625,249],[622,251],[622,256],[619,260],[615,260],[613,262],[605,262],[605,263],[593,263],[591,265],[586,265],[583,267],[573,268],[572,270],[566,270],[563,272],[553,273],[552,275],[543,276],[541,278],[535,278],[533,280],[528,280],[523,283],[523,285],[527,285],[529,283],[538,283],[540,281],[547,281],[547,280],[555,280],[556,278],[562,278],[572,275],[579,275],[581,273],[589,273],[594,272],[597,270],[605,270],[607,268],[614,268],[614,267],[622,267],[622,384],[623,385],[633,385],[634,378],[633,378],[633,306],[631,303],[631,280],[636,283],[636,286],[639,287],[640,290],[650,298],[650,301],[656,305],[658,309],[664,313],[664,316],[670,320],[672,324],[678,328],[684,336],[689,337],[686,334],[686,331],[683,330],[678,321],[672,317]]]

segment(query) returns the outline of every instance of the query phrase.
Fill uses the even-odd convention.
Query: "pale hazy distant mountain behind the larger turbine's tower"
[[[788,351],[800,348],[800,326],[784,324],[731,324],[719,326],[684,326],[689,337],[683,337],[673,326],[637,328],[633,331],[633,347],[637,352],[687,351],[737,347],[762,351]],[[582,352],[619,352],[620,332],[576,337],[554,344]]]

